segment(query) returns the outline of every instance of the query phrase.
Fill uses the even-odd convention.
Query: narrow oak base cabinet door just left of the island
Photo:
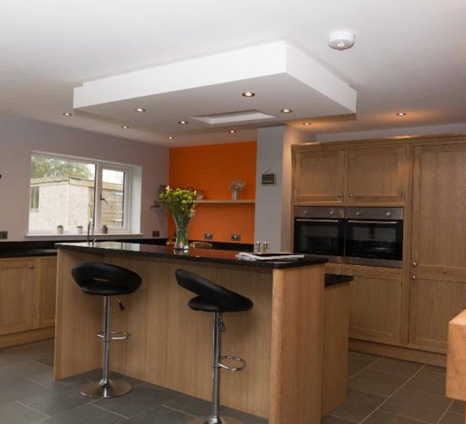
[[[38,325],[40,328],[55,325],[56,258],[38,259]]]

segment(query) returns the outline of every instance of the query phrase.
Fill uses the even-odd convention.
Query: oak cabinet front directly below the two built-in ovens
[[[401,269],[327,264],[325,272],[354,277],[350,284],[349,337],[389,344],[405,340],[407,299]]]

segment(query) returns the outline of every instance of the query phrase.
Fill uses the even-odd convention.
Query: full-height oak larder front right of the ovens
[[[410,343],[446,348],[466,309],[466,145],[414,149]]]

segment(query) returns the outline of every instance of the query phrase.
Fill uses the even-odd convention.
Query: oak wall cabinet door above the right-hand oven
[[[345,201],[404,203],[407,147],[349,148]]]

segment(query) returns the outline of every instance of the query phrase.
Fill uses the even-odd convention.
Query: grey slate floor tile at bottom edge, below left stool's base
[[[117,424],[124,422],[126,418],[88,404],[42,420],[40,424]]]

